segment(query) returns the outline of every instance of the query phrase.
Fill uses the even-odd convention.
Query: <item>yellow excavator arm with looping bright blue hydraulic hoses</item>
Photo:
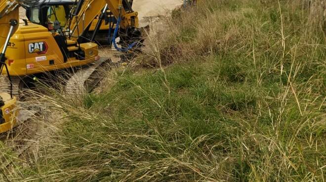
[[[103,27],[103,20],[108,23],[108,32],[110,44],[118,50],[127,50],[134,43],[142,41],[141,31],[138,23],[138,12],[132,9],[133,0],[90,0],[79,6],[81,0],[78,1],[74,10],[79,11],[79,15],[71,13],[73,17],[69,18],[65,26],[65,30],[70,31],[71,39],[79,38],[80,41],[94,41]],[[95,11],[89,7],[100,7]],[[91,22],[87,24],[84,22]],[[106,24],[105,23],[105,24]],[[87,26],[88,25],[88,26]],[[82,30],[82,31],[81,31]],[[118,31],[119,30],[119,31]],[[91,31],[90,36],[85,36]],[[118,48],[115,38],[120,37],[124,48]]]

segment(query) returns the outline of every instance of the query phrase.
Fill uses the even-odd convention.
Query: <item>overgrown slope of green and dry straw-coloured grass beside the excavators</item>
[[[82,104],[53,100],[68,121],[21,178],[325,180],[320,17],[299,0],[212,0],[173,14],[140,60],[159,69],[118,71]]]

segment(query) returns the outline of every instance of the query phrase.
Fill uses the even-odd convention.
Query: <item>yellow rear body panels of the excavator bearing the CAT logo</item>
[[[33,23],[20,25],[10,39],[6,51],[6,64],[10,75],[25,76],[82,66],[99,59],[97,57],[98,46],[95,43],[84,43],[79,46],[67,47],[67,49],[72,52],[72,55],[74,55],[74,51],[79,49],[84,51],[84,59],[77,59],[74,56],[69,57],[67,55],[68,58],[65,61],[52,33],[45,27]],[[4,70],[2,70],[2,74],[6,74]]]

